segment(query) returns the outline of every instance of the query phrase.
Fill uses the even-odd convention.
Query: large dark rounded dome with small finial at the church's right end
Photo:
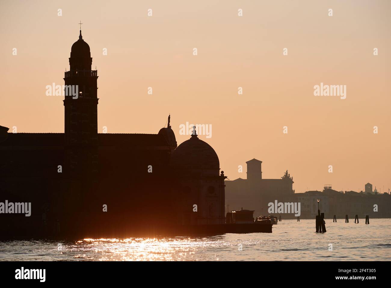
[[[180,144],[171,158],[178,174],[189,176],[219,176],[220,162],[215,150],[197,134]]]

